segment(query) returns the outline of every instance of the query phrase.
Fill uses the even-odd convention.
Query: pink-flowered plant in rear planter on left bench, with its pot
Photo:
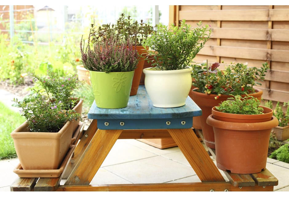
[[[46,75],[32,74],[33,81],[44,89],[44,95],[49,102],[59,100],[63,103],[63,110],[72,110],[72,113],[81,114],[83,98],[74,98],[73,91],[84,84],[84,80],[78,80],[77,74],[65,74],[59,76],[51,70],[47,70]],[[79,120],[72,121],[72,130],[75,131],[79,125]]]

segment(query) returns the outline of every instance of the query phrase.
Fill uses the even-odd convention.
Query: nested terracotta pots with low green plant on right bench
[[[271,129],[278,120],[272,109],[259,105],[253,96],[236,95],[212,108],[207,123],[214,130],[219,169],[237,174],[265,169]]]

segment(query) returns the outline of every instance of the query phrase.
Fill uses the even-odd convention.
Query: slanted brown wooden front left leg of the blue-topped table
[[[122,131],[98,129],[65,185],[88,185]]]

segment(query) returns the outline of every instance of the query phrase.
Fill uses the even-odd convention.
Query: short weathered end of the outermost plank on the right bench
[[[278,185],[278,179],[272,175],[272,173],[270,171],[268,171],[267,169],[259,172],[259,173],[255,173],[255,174],[251,174],[252,179],[255,180],[256,184],[258,184],[258,186],[276,186]]]

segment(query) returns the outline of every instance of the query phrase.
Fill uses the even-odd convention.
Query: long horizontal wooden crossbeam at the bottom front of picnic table
[[[234,187],[230,182],[210,183],[154,183],[119,185],[60,186],[57,191],[273,191],[273,186]]]

